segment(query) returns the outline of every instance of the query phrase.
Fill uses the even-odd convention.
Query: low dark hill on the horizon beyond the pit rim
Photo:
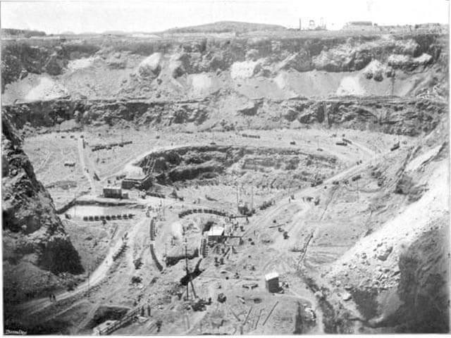
[[[171,28],[166,33],[224,33],[224,32],[253,32],[258,30],[286,30],[280,25],[267,25],[265,23],[240,23],[237,21],[219,21],[218,23],[207,23],[205,25]]]

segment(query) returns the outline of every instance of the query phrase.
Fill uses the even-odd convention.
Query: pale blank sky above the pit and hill
[[[448,23],[449,0],[159,0],[1,1],[4,28],[61,32],[159,32],[222,20],[298,27],[323,18],[328,29],[347,21],[378,25]]]

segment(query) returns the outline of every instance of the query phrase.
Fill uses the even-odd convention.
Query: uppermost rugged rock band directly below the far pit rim
[[[177,78],[185,73],[231,70],[234,63],[251,60],[258,61],[259,65],[263,63],[262,69],[269,72],[281,69],[299,72],[352,72],[362,70],[373,60],[406,71],[433,63],[446,64],[445,60],[441,60],[446,45],[445,35],[440,34],[418,32],[390,37],[377,34],[361,37],[306,37],[286,32],[284,34],[274,37],[242,35],[230,39],[205,38],[191,41],[184,37],[171,37],[170,42],[166,39],[129,39],[119,44],[104,42],[102,39],[93,39],[89,43],[86,40],[66,39],[50,42],[39,39],[6,41],[2,44],[1,92],[4,92],[6,84],[22,78],[26,73],[61,75],[65,73],[70,61],[94,55],[108,54],[104,56],[110,60],[107,62],[109,66],[124,68],[125,61],[115,61],[109,57],[109,54],[122,52],[141,58],[140,62],[144,64],[137,64],[138,73],[150,74],[151,78],[158,76],[165,67]],[[164,58],[168,59],[168,62],[163,64]],[[149,61],[150,70],[147,69]]]

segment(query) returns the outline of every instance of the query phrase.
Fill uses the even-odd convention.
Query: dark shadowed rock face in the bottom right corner
[[[448,246],[445,228],[430,230],[400,254],[398,332],[449,332]]]

